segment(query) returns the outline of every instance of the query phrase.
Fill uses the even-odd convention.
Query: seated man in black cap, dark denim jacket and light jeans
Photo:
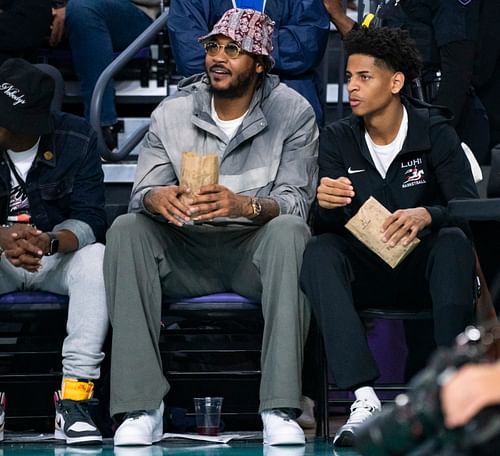
[[[83,119],[51,113],[53,94],[52,78],[28,62],[0,67],[0,294],[69,295],[55,437],[97,443],[87,405],[108,327],[103,172],[95,133]]]

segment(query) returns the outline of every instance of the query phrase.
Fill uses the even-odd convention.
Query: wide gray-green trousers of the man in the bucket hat
[[[142,214],[118,217],[104,258],[113,327],[111,415],[158,408],[168,392],[158,346],[162,296],[223,291],[262,303],[259,410],[299,409],[310,319],[299,273],[309,238],[306,223],[291,215],[262,227],[182,228]]]

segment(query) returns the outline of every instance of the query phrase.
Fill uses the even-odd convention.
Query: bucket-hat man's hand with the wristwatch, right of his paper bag
[[[251,198],[237,195],[223,185],[204,185],[194,195],[190,205],[194,220],[216,217],[248,217],[253,213]]]

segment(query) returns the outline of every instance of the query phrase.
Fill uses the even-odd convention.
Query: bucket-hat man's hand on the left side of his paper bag
[[[182,203],[180,196],[188,189],[181,185],[155,187],[144,197],[144,206],[153,214],[160,214],[170,223],[182,226],[191,220],[189,208]]]

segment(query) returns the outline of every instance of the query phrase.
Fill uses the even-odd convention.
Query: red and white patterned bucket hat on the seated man
[[[252,9],[232,8],[227,10],[208,35],[198,38],[204,42],[215,35],[231,38],[244,51],[265,57],[267,71],[274,65],[274,22],[265,14]]]

